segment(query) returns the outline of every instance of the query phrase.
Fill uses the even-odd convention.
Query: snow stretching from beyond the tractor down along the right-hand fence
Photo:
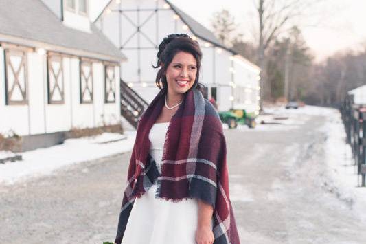
[[[360,211],[365,212],[366,188],[358,187],[361,184],[361,176],[357,174],[356,166],[354,166],[352,149],[350,145],[346,143],[345,129],[339,110],[305,106],[299,107],[299,109],[271,107],[265,108],[264,112],[271,113],[274,117],[288,116],[287,125],[292,124],[294,120],[299,120],[299,122],[301,122],[301,115],[302,117],[307,118],[309,118],[309,116],[325,116],[325,125],[319,129],[319,132],[327,135],[327,140],[325,141],[325,160],[329,167],[330,182],[332,182],[328,188],[333,188],[330,190],[337,192],[339,198],[345,201],[352,201],[351,204],[353,204],[354,208],[358,208]],[[306,122],[306,119],[303,119],[302,122]],[[266,126],[266,124],[263,126]],[[366,218],[366,214],[363,215]]]

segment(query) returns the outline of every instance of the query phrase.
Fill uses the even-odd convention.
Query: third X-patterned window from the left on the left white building
[[[80,103],[93,102],[93,69],[91,61],[80,60]]]

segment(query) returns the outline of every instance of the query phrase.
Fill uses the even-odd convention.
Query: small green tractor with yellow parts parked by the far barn
[[[255,123],[255,113],[247,113],[245,109],[230,109],[225,112],[218,112],[222,123],[226,123],[229,129],[236,128],[238,124],[247,124],[249,128],[254,128]]]

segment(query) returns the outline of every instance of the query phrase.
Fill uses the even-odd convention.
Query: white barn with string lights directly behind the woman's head
[[[225,47],[212,32],[165,0],[111,0],[95,25],[127,56],[121,77],[147,102],[155,86],[157,47],[165,36],[185,33],[203,51],[200,80],[220,111],[231,108],[256,113],[260,109],[259,67]],[[123,96],[123,94],[122,94]],[[123,98],[122,98],[123,99]]]

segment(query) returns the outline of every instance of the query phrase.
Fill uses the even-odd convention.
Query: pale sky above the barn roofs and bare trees
[[[108,0],[94,0],[91,16],[98,15],[96,13],[106,2]],[[209,29],[211,16],[222,8],[235,16],[240,24],[238,31],[248,38],[253,36],[251,30],[258,23],[253,0],[171,2]],[[323,0],[305,22],[302,32],[317,60],[343,49],[361,49],[362,44],[366,47],[366,0]]]

